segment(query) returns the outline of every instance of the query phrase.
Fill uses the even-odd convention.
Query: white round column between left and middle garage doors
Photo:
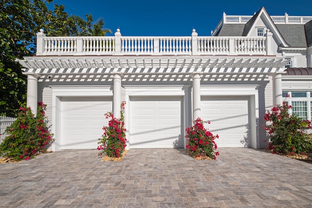
[[[121,73],[114,73],[114,88],[113,88],[113,116],[120,118],[121,104]]]

